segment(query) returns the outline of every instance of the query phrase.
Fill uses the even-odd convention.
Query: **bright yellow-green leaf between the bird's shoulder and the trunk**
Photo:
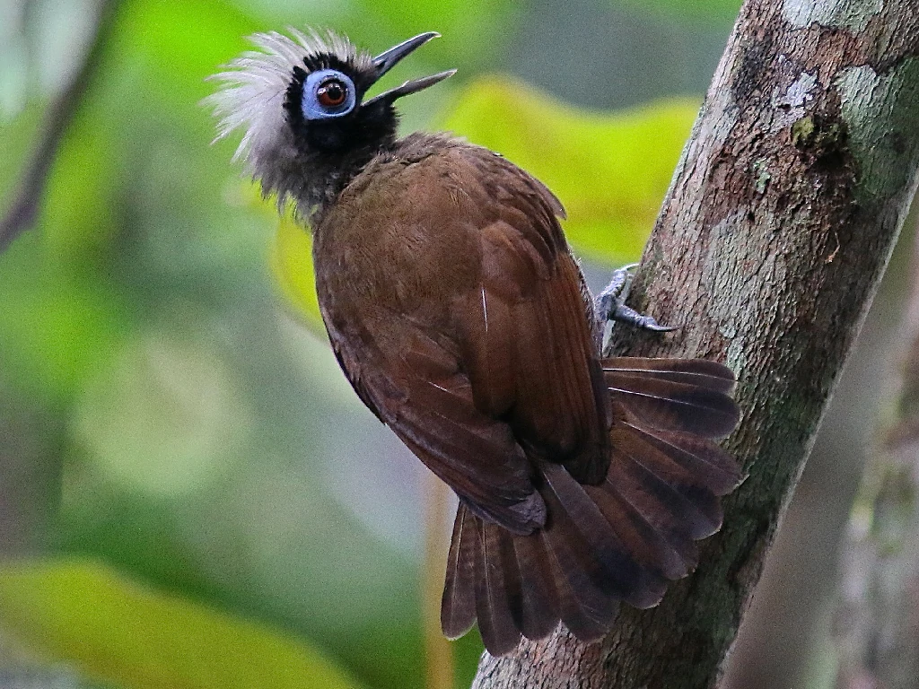
[[[491,76],[465,89],[443,127],[542,180],[568,212],[575,247],[621,264],[641,254],[697,111],[683,98],[598,113]]]

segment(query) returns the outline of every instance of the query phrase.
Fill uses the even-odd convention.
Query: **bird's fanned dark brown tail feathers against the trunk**
[[[538,462],[547,518],[528,536],[459,505],[441,607],[449,638],[476,620],[492,655],[560,621],[583,641],[601,638],[620,601],[658,604],[696,567],[696,541],[720,528],[719,498],[743,480],[713,442],[740,417],[732,371],[701,359],[602,363],[614,409],[605,480],[582,485]]]

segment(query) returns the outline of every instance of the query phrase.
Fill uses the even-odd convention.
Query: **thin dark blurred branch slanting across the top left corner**
[[[22,232],[26,232],[38,217],[40,200],[48,175],[51,173],[51,164],[57,155],[64,132],[73,121],[74,114],[83,100],[86,87],[96,72],[96,65],[108,42],[118,6],[119,0],[102,0],[96,18],[96,30],[80,69],[48,109],[39,144],[32,153],[13,202],[0,220],[0,253],[6,251],[10,243]]]

